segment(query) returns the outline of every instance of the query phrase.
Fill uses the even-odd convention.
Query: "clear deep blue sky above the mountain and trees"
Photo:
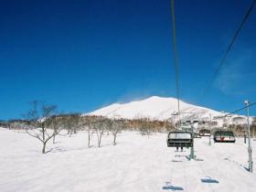
[[[176,1],[183,101],[227,112],[256,101],[256,9],[200,97],[250,4]],[[2,1],[0,26],[0,119],[20,118],[34,100],[90,112],[176,96],[169,0]]]

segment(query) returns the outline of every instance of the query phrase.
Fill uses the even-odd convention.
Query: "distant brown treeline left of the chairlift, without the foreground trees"
[[[63,129],[70,131],[80,131],[84,130],[84,125],[97,125],[100,122],[110,122],[108,126],[111,126],[112,123],[119,123],[122,126],[123,130],[131,131],[145,131],[149,130],[151,132],[166,132],[175,130],[174,123],[169,121],[152,121],[148,118],[136,119],[136,120],[127,120],[127,119],[110,119],[102,116],[94,115],[80,115],[79,113],[71,114],[59,114],[52,115],[48,119],[55,118],[59,124],[62,124]],[[44,120],[42,120],[44,121]],[[30,120],[16,119],[9,121],[0,121],[0,126],[8,129],[27,129]]]

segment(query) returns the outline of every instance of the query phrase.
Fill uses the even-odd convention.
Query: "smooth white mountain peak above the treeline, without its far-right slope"
[[[196,105],[188,104],[187,102],[180,101],[181,112],[186,113],[202,113],[200,116],[220,115],[207,108],[199,107]],[[141,101],[131,101],[128,103],[113,103],[109,106],[103,107],[95,112],[89,113],[90,115],[101,115],[109,118],[120,117],[124,119],[140,119],[150,118],[152,120],[167,120],[173,118],[174,113],[177,112],[177,100],[172,97],[159,97],[151,96]],[[191,116],[190,114],[190,116]]]

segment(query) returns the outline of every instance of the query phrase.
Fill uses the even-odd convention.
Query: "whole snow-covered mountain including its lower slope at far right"
[[[218,118],[226,113],[217,112],[205,107],[189,104],[180,101],[181,119],[183,120],[212,120],[218,122],[219,126],[223,123],[245,123],[245,117],[234,115],[230,118]],[[153,96],[142,101],[131,101],[128,103],[114,103],[103,107],[89,115],[105,116],[108,118],[140,119],[149,118],[151,120],[177,120],[177,100],[175,98],[164,98]]]

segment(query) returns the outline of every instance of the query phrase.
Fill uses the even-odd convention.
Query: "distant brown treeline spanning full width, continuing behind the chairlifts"
[[[148,118],[127,120],[127,119],[110,119],[102,116],[94,115],[81,115],[80,113],[68,113],[52,115],[49,119],[55,119],[61,124],[62,129],[68,130],[69,133],[77,133],[77,131],[85,130],[86,126],[99,126],[100,123],[104,123],[106,130],[111,130],[113,124],[118,124],[122,130],[139,131],[142,134],[149,134],[152,132],[165,133],[176,130],[175,123],[170,121],[156,121]],[[7,129],[27,129],[29,128],[29,120],[10,120],[0,121],[0,127]],[[216,125],[217,123],[212,123]],[[237,136],[242,136],[247,132],[247,124],[229,124],[225,125],[226,129],[233,131]],[[202,126],[202,128],[209,129],[209,125]],[[256,118],[251,123],[251,135],[256,136]]]

